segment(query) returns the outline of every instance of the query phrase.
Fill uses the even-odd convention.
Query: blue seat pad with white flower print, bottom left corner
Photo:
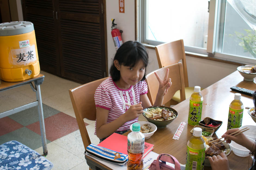
[[[0,145],[0,169],[49,170],[53,164],[15,140]]]

